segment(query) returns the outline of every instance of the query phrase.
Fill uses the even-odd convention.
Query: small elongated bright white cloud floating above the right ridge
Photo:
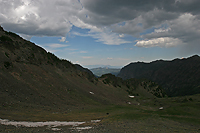
[[[181,43],[182,43],[181,40],[177,38],[163,37],[163,38],[154,38],[151,40],[137,41],[135,46],[145,47],[145,48],[149,48],[149,47],[166,47],[167,48],[167,47],[177,46]]]

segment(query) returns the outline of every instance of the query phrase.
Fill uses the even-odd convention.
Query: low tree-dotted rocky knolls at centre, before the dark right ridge
[[[115,77],[112,74],[105,74],[102,75],[99,80],[101,80],[104,84],[113,85],[114,87],[121,88],[122,86],[126,86],[126,91],[132,96],[156,96],[159,98],[167,96],[161,86],[146,79],[131,78],[123,80],[122,78]]]

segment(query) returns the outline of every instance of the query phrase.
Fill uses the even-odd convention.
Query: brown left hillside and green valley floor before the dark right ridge
[[[195,83],[197,70],[190,71]],[[200,131],[199,91],[169,97],[162,84],[147,77],[122,78],[112,74],[97,78],[90,70],[1,28],[0,120],[84,123],[78,125],[80,131],[73,125],[26,127],[2,122],[0,132]]]

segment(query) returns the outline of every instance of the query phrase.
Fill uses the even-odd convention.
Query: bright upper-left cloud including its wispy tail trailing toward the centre
[[[12,6],[14,5],[14,6]],[[89,23],[92,18],[78,0],[11,0],[0,5],[4,21],[0,24],[5,29],[31,36],[62,36],[60,42],[65,42],[65,36],[72,26],[89,30],[88,35],[107,45],[130,43],[121,39],[123,35],[112,33],[108,28]],[[88,17],[86,18],[85,15]],[[94,15],[94,14],[93,14]]]

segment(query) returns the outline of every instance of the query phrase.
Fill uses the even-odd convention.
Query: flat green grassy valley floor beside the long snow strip
[[[193,99],[190,101],[189,99]],[[144,101],[145,100],[145,101]],[[69,113],[52,113],[49,111],[28,112],[26,117],[37,118],[41,120],[68,120],[68,121],[90,121],[91,119],[101,119],[101,123],[92,124],[91,130],[85,132],[199,132],[199,95],[177,98],[156,99],[163,104],[164,110],[159,110],[159,105],[154,105],[152,99],[136,99],[131,102],[140,101],[140,105],[104,105],[99,107],[90,107],[84,110],[74,110]],[[143,103],[142,103],[143,101]],[[20,112],[21,113],[21,112]],[[109,114],[108,114],[109,113]],[[24,115],[21,113],[22,116]],[[18,112],[17,112],[17,115]],[[38,119],[39,118],[39,119]],[[48,119],[47,119],[48,118]],[[31,119],[33,120],[33,119]],[[88,126],[88,125],[86,125]],[[91,124],[89,125],[91,126]],[[5,128],[2,126],[2,128]],[[26,130],[25,130],[26,129]],[[68,131],[67,127],[61,127]],[[41,131],[47,132],[44,128],[13,128],[6,127],[6,131]],[[3,130],[2,130],[3,131]],[[71,132],[71,131],[70,131]],[[83,131],[84,132],[84,131]]]

